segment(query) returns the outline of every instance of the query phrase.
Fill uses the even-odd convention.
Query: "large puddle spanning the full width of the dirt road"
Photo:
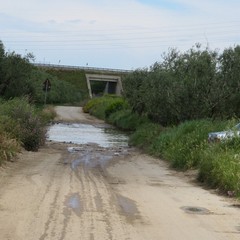
[[[74,144],[95,143],[104,148],[128,146],[128,137],[107,125],[54,124],[48,129],[47,140]]]

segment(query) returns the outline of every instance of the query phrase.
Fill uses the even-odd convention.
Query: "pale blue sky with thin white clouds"
[[[0,0],[5,51],[36,63],[134,70],[196,43],[240,44],[239,0]]]

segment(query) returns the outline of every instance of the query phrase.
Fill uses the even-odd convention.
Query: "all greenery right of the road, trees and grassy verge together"
[[[239,68],[240,46],[222,53],[200,45],[170,50],[162,62],[123,79],[122,99],[93,99],[85,110],[132,131],[131,145],[176,169],[195,169],[202,183],[240,197],[240,139],[207,141],[209,132],[239,122]],[[121,107],[113,107],[115,101]],[[114,110],[107,114],[109,108]]]

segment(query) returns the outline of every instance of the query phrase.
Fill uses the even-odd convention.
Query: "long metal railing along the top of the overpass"
[[[89,72],[108,72],[108,73],[131,73],[133,70],[124,69],[112,69],[112,68],[96,68],[96,67],[84,67],[84,66],[68,66],[60,64],[47,64],[47,63],[33,63],[36,67],[42,68],[55,68],[55,69],[65,69],[65,70],[84,70]]]

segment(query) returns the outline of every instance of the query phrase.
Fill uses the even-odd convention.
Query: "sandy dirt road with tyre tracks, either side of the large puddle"
[[[98,122],[80,110],[58,120]],[[0,185],[1,240],[240,239],[239,203],[134,149],[48,143]]]

